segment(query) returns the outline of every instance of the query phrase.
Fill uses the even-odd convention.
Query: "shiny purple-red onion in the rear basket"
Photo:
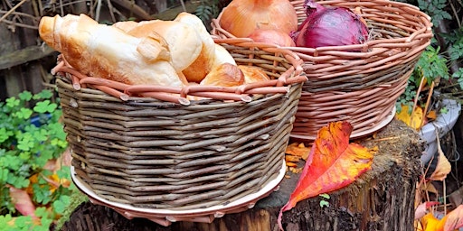
[[[345,7],[325,7],[312,0],[306,4],[307,18],[291,34],[298,47],[317,48],[361,44],[368,27],[358,14]]]

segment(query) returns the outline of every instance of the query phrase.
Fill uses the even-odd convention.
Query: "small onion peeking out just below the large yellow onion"
[[[296,43],[288,33],[271,29],[256,29],[248,38],[252,39],[254,42],[270,43],[280,47],[296,46]]]

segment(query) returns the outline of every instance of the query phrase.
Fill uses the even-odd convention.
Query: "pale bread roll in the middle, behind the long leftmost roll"
[[[142,21],[128,34],[143,38],[160,34],[167,42],[175,70],[183,71],[199,56],[203,42],[194,28],[186,23],[162,20]]]

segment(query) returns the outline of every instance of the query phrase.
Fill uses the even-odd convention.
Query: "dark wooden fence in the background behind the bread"
[[[42,42],[38,24],[44,15],[88,14],[102,23],[149,20],[181,0],[0,0],[0,100],[28,90],[53,88],[50,70],[58,53]]]

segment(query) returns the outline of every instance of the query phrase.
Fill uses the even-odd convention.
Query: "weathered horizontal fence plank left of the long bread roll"
[[[29,46],[22,50],[2,54],[0,57],[0,69],[10,69],[28,61],[40,60],[53,52],[54,50],[51,47],[43,45]]]

